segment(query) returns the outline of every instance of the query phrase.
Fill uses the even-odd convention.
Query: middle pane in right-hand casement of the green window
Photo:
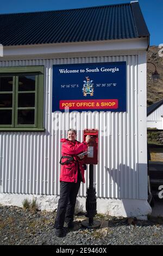
[[[34,107],[35,106],[35,93],[19,93],[18,94],[18,107]]]

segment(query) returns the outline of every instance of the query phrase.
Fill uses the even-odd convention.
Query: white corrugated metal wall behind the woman
[[[52,113],[52,65],[127,62],[127,109],[118,112]],[[139,198],[137,149],[137,56],[65,58],[0,62],[1,66],[45,65],[46,132],[1,132],[3,192],[59,194],[60,138],[69,127],[99,129],[99,164],[94,180],[98,197]],[[89,176],[79,195],[86,195]]]

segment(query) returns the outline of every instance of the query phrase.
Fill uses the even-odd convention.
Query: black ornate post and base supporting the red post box
[[[87,188],[86,197],[86,214],[85,216],[89,218],[82,221],[82,225],[86,228],[99,228],[101,226],[100,221],[94,221],[93,217],[97,214],[97,203],[96,203],[96,188],[93,187],[93,164],[90,164],[89,171],[89,188]]]

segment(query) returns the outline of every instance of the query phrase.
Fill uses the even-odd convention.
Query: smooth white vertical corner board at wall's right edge
[[[138,159],[139,199],[147,199],[147,54],[138,55]]]

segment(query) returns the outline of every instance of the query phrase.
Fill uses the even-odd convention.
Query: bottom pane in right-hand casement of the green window
[[[34,124],[35,122],[34,109],[22,109],[18,110],[17,124]]]

